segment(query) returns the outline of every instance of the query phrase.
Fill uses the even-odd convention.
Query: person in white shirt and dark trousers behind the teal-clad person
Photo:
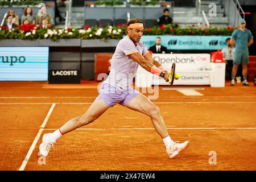
[[[227,47],[223,48],[221,52],[223,53],[223,58],[226,63],[225,78],[226,80],[231,80],[235,48],[230,43],[230,38],[226,39],[226,44],[227,44]],[[238,73],[237,73],[237,78],[236,78],[237,83],[241,82],[241,76],[242,76],[242,67],[240,65],[240,68],[238,69]]]

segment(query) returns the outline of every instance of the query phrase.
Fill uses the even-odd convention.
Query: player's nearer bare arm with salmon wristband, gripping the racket
[[[129,56],[131,59],[136,61],[139,65],[141,65],[142,68],[146,69],[146,71],[148,71],[148,72],[151,72],[155,75],[157,75],[157,73],[162,72],[162,70],[160,70],[154,64],[152,64],[151,61],[144,59],[144,57],[138,52],[131,53]],[[168,72],[164,73],[164,80],[169,81]]]

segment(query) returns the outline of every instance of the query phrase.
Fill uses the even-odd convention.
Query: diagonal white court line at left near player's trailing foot
[[[28,150],[27,155],[26,155],[25,159],[23,160],[22,166],[20,166],[20,168],[19,168],[19,171],[23,171],[24,168],[26,167],[27,162],[28,162],[28,160],[30,159],[30,156],[31,156],[32,152],[34,151],[34,148],[35,148],[35,146],[36,146],[36,143],[38,143],[38,140],[39,140],[39,138],[40,138],[40,135],[42,134],[42,132],[43,132],[43,130],[44,130],[44,127],[46,126],[46,123],[47,123],[47,121],[48,121],[48,119],[49,119],[49,117],[50,117],[50,115],[51,115],[51,113],[52,113],[54,107],[55,107],[55,104],[52,104],[51,108],[49,109],[49,111],[48,111],[48,113],[47,113],[47,115],[46,115],[46,118],[44,119],[43,124],[40,126],[40,129],[39,129],[39,131],[38,131],[38,134],[36,135],[36,137],[35,137],[35,139],[34,139],[32,145],[31,145],[31,147],[30,147],[30,150]]]

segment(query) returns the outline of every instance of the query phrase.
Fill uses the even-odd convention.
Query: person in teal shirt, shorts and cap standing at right
[[[242,64],[243,85],[249,86],[247,82],[247,64],[249,64],[248,47],[253,44],[253,35],[251,34],[250,30],[247,30],[245,28],[246,22],[244,19],[241,19],[239,21],[239,26],[240,28],[233,32],[230,39],[230,43],[232,44],[232,46],[236,45],[233,60],[231,85],[234,86],[238,66]]]

